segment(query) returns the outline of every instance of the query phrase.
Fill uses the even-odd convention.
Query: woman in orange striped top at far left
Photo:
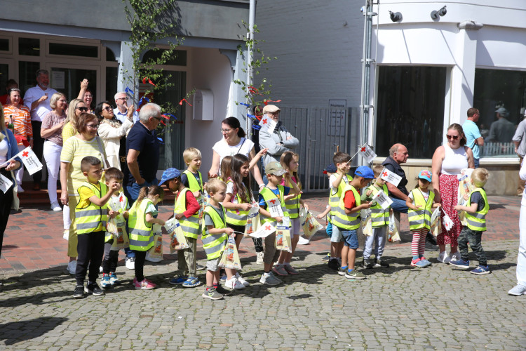
[[[20,104],[20,89],[11,88],[8,93],[10,105],[4,107],[4,116],[9,122],[10,117],[13,117],[13,125],[15,126],[15,139],[18,145],[18,151],[24,150],[28,145],[33,146],[33,128],[31,126],[31,114],[29,108]],[[16,183],[18,184],[18,192],[24,192],[22,187],[22,177],[24,176],[24,165],[20,166],[16,173]]]

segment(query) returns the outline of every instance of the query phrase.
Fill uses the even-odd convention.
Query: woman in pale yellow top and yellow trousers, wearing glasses
[[[81,171],[81,161],[86,156],[94,156],[103,164],[103,159],[106,157],[102,140],[97,137],[98,127],[99,121],[95,114],[82,112],[76,121],[76,130],[79,133],[65,141],[60,154],[60,184],[62,185],[60,201],[64,206],[69,205],[69,218],[72,220],[67,241],[67,256],[69,256],[67,268],[71,274],[75,274],[75,258],[78,256],[75,207],[79,203],[79,194],[76,190],[86,181]]]

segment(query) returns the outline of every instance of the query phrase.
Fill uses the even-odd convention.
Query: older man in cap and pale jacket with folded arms
[[[264,166],[267,166],[267,164],[272,161],[279,162],[283,152],[291,151],[299,145],[299,140],[293,137],[279,120],[280,111],[281,110],[276,105],[267,105],[263,107],[263,117],[267,115],[267,117],[276,121],[276,128],[274,128],[272,133],[263,129],[259,131],[259,145],[261,145],[262,149],[269,149],[267,154],[263,157]]]

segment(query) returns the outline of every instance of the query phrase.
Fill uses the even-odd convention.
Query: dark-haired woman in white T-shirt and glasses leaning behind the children
[[[239,120],[236,119],[236,117],[229,117],[222,121],[221,133],[223,138],[215,143],[212,148],[214,156],[212,166],[210,167],[210,171],[208,171],[208,178],[218,176],[221,161],[225,156],[243,154],[248,157],[248,159],[255,157],[254,143],[252,143],[252,140],[245,138],[245,131],[241,128],[241,124],[239,124]],[[252,168],[252,175],[259,185],[259,189],[265,186],[257,165]]]

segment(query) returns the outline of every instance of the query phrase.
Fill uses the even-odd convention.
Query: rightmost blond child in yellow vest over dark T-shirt
[[[471,183],[475,189],[465,195],[464,199],[468,201],[466,206],[457,205],[454,209],[457,211],[466,211],[467,225],[462,227],[459,236],[460,260],[450,261],[450,265],[460,268],[469,268],[468,243],[471,250],[475,253],[478,260],[478,267],[471,271],[473,274],[488,274],[490,267],[487,266],[486,253],[480,241],[482,233],[486,231],[486,215],[490,211],[490,204],[487,202],[484,185],[490,174],[485,168],[477,168],[471,173]]]

